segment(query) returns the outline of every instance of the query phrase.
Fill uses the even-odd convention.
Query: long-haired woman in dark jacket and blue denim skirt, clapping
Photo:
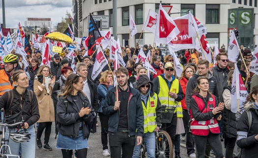
[[[82,77],[70,74],[57,102],[57,149],[62,150],[63,158],[72,158],[73,150],[77,158],[87,157],[88,125],[93,121],[94,110],[83,88]]]

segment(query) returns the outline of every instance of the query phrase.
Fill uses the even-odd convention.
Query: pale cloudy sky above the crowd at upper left
[[[6,28],[25,25],[27,18],[51,18],[52,27],[60,23],[66,11],[72,13],[72,0],[4,0]],[[2,23],[2,0],[0,0]]]

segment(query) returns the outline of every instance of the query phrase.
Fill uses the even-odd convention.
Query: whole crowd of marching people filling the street
[[[208,158],[211,154],[216,158],[256,157],[258,75],[245,68],[251,64],[250,49],[242,47],[244,58],[237,61],[249,91],[245,112],[237,115],[230,111],[235,99],[231,98],[235,67],[223,48],[216,61],[209,63],[196,49],[180,50],[172,56],[158,47],[143,45],[145,55],[151,52],[150,64],[156,74],[148,72],[141,60],[136,63],[139,50],[122,48],[126,67],[114,70],[114,61],[110,60],[110,67],[103,68],[94,80],[94,61],[85,55],[85,49],[75,51],[76,73],[66,58],[67,51],[64,56],[55,54],[51,67],[41,65],[40,50],[27,55],[27,68],[20,54],[6,55],[0,69],[3,121],[25,120],[24,126],[10,132],[29,137],[25,142],[10,139],[12,153],[35,158],[36,146],[51,151],[49,139],[55,122],[56,148],[61,149],[63,158],[72,158],[73,152],[77,158],[85,158],[87,140],[99,123],[102,154],[111,158],[139,158],[143,141],[147,157],[155,158],[155,132],[160,130],[170,135],[175,158],[181,158],[180,141],[186,141],[190,158]],[[109,60],[109,50],[103,51]],[[183,68],[181,74],[176,74],[175,58]],[[172,112],[169,119],[162,118],[162,108]],[[236,144],[238,153],[234,152]]]

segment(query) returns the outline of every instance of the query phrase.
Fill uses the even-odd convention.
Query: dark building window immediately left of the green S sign
[[[220,23],[220,5],[206,4],[206,23]]]

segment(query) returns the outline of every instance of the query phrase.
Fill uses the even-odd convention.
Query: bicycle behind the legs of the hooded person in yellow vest
[[[166,131],[155,132],[156,158],[173,158],[173,144],[170,135]],[[140,158],[145,158],[146,146],[143,141],[141,144]]]

